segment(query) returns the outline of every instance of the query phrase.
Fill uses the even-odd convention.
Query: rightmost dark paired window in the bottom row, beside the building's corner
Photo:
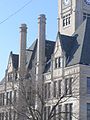
[[[65,104],[65,120],[72,120],[72,103]]]

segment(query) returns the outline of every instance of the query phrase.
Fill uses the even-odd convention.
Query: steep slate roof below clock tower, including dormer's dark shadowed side
[[[90,18],[86,19],[72,36],[60,33],[58,36],[65,52],[66,66],[90,65]]]

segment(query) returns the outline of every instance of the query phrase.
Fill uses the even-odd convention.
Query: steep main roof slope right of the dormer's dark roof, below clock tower
[[[86,19],[73,34],[75,38],[67,66],[74,64],[90,64],[90,19]]]

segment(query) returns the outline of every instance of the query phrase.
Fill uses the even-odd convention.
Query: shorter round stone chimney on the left
[[[21,24],[21,27],[20,27],[20,55],[19,55],[20,77],[25,77],[25,72],[26,72],[26,39],[27,39],[27,26],[26,26],[26,24]]]

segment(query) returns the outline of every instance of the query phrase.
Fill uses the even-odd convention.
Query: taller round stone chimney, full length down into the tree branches
[[[38,85],[42,90],[43,72],[45,67],[45,39],[46,39],[46,17],[41,14],[38,17],[38,43],[37,43],[37,65],[36,65],[36,90]],[[41,92],[42,94],[42,92]],[[40,106],[38,97],[36,95],[35,108]]]

